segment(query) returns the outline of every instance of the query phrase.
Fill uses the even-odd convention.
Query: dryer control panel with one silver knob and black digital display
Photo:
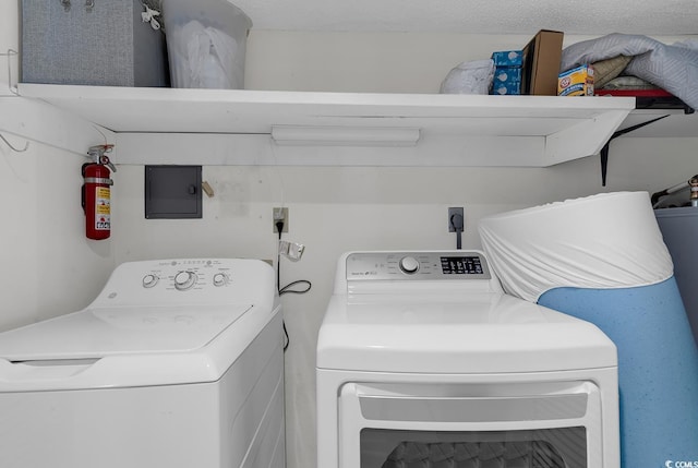
[[[348,281],[490,278],[488,262],[478,251],[352,252],[346,257]]]

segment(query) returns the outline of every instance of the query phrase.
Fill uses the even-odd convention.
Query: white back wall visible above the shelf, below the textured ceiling
[[[564,46],[598,36],[566,35]],[[687,36],[655,37],[665,44]],[[693,36],[695,37],[695,36]],[[363,93],[437,93],[460,62],[520,49],[526,35],[250,32],[245,87]]]

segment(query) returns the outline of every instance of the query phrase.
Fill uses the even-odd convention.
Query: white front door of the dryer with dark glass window
[[[601,396],[588,381],[348,383],[342,468],[603,467]]]

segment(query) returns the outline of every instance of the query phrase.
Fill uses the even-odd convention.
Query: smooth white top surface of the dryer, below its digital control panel
[[[550,372],[617,365],[594,325],[503,293],[334,296],[317,368],[419,373]]]

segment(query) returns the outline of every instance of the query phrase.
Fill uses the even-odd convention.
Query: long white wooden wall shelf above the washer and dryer
[[[316,151],[281,148],[280,164],[551,166],[598,154],[635,107],[633,98],[308,93],[228,89],[132,88],[20,84],[21,96],[49,103],[116,133],[118,146],[185,146],[202,136],[272,142],[272,128],[419,129],[414,147],[382,149],[375,160],[359,148],[336,158]],[[248,137],[248,140],[245,140]],[[123,143],[123,145],[122,145]],[[272,143],[273,144],[273,143]],[[322,143],[333,146],[332,142]],[[357,143],[356,146],[364,144]],[[350,145],[351,146],[351,145]],[[368,144],[368,146],[371,146]],[[170,149],[174,149],[171,147]],[[430,157],[424,157],[429,149]],[[433,152],[432,152],[433,151]],[[435,154],[448,152],[449,154]],[[214,152],[215,153],[215,152]],[[254,152],[253,152],[254,153]],[[353,154],[352,154],[353,153]],[[419,154],[418,154],[419,153]],[[216,164],[279,164],[260,152],[215,156]],[[119,157],[124,152],[120,152]],[[303,156],[304,155],[304,156]],[[124,163],[137,163],[118,159]],[[322,158],[322,159],[321,159]],[[373,159],[371,159],[373,158]],[[179,159],[177,159],[179,161]],[[191,164],[191,160],[182,164]],[[204,161],[206,164],[210,161]],[[147,163],[146,163],[147,164]]]

